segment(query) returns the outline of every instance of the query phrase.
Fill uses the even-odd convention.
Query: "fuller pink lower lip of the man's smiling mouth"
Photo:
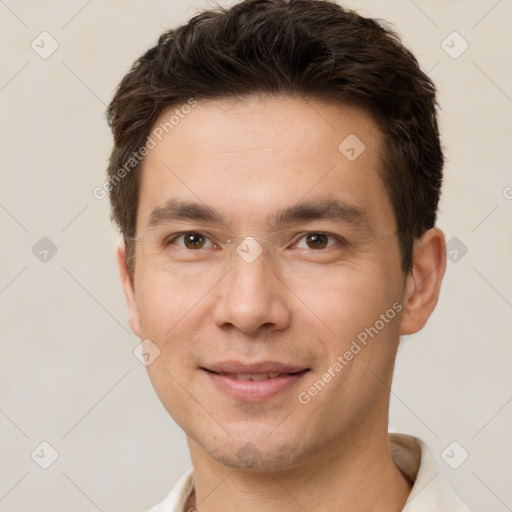
[[[293,387],[307,373],[304,370],[266,380],[238,380],[227,375],[203,371],[213,380],[218,389],[237,400],[246,402],[259,402],[272,398]]]

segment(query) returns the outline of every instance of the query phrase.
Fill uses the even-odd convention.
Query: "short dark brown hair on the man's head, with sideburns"
[[[442,182],[434,84],[382,22],[330,0],[245,0],[203,11],[163,33],[136,60],[108,106],[112,219],[124,236],[130,274],[140,149],[157,118],[190,98],[254,93],[353,104],[373,116],[386,141],[382,179],[408,272],[414,239],[435,225]]]

